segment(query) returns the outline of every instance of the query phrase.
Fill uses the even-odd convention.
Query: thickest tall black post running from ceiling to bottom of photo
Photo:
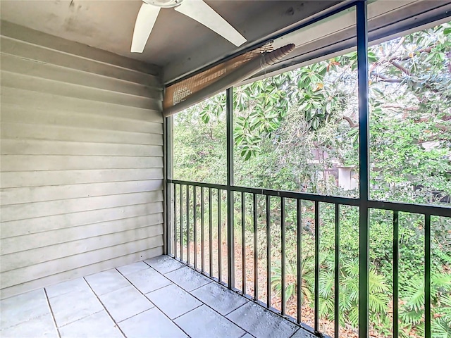
[[[369,337],[369,75],[367,1],[357,1],[359,92],[359,338]]]

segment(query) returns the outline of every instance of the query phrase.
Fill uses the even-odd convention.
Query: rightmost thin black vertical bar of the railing
[[[424,215],[424,338],[431,338],[431,215]]]

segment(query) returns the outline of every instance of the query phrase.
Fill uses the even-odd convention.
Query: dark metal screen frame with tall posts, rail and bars
[[[257,196],[266,196],[266,208],[269,208],[269,199],[270,196],[273,196],[271,201],[275,200],[274,197],[278,197],[280,199],[281,209],[285,208],[285,199],[296,199],[297,201],[297,226],[300,227],[301,224],[301,203],[304,200],[314,201],[315,204],[315,222],[319,222],[319,202],[326,202],[330,204],[335,204],[335,299],[338,299],[339,293],[339,245],[340,245],[340,224],[339,224],[339,208],[340,205],[345,206],[358,206],[359,207],[359,337],[367,338],[369,337],[369,211],[371,209],[381,209],[393,211],[393,297],[394,299],[398,298],[398,266],[399,266],[399,232],[398,232],[398,213],[408,212],[408,213],[417,213],[424,215],[425,220],[425,247],[424,247],[424,257],[425,257],[425,266],[424,266],[424,275],[425,275],[425,338],[431,337],[431,215],[450,217],[451,211],[450,208],[439,207],[439,206],[431,206],[431,205],[422,205],[422,204],[404,204],[397,202],[388,202],[388,201],[376,201],[371,200],[369,198],[369,104],[368,104],[368,29],[367,29],[367,3],[366,1],[354,1],[351,4],[348,3],[340,11],[345,11],[347,8],[351,8],[355,6],[356,15],[357,15],[357,69],[358,69],[358,86],[359,86],[359,198],[352,199],[347,197],[338,197],[338,196],[323,196],[316,194],[307,194],[301,192],[287,192],[287,191],[278,191],[273,189],[259,189],[259,188],[249,188],[249,187],[239,187],[235,186],[233,182],[233,88],[229,88],[226,91],[226,132],[227,132],[227,184],[210,184],[203,182],[190,182],[183,180],[173,180],[173,118],[166,118],[164,122],[164,140],[165,140],[165,253],[171,256],[175,256],[175,248],[171,246],[173,239],[175,238],[175,232],[178,231],[177,227],[180,229],[180,234],[182,232],[182,201],[183,201],[183,186],[185,186],[186,194],[189,194],[190,187],[192,187],[192,192],[195,198],[196,188],[200,188],[201,199],[202,199],[202,268],[197,269],[197,261],[194,261],[194,268],[199,270],[200,272],[211,275],[212,271],[212,259],[209,258],[209,274],[206,273],[206,267],[204,266],[204,190],[208,189],[208,200],[209,207],[211,206],[212,199],[212,190],[215,189],[218,192],[218,203],[220,203],[221,199],[219,198],[219,194],[221,192],[226,192],[227,201],[233,201],[233,194],[240,193],[241,201],[245,199],[245,194],[250,194],[253,196],[254,201],[254,244],[257,244],[256,234],[257,234],[257,225],[256,225],[256,203]],[[330,13],[333,15],[338,13],[338,11],[334,11]],[[315,20],[312,20],[311,23],[314,23],[318,20],[322,20],[324,17],[321,16]],[[310,23],[310,24],[311,24]],[[176,187],[179,188],[180,196],[176,196]],[[180,210],[177,208],[177,199],[180,198]],[[190,206],[188,204],[186,211],[187,215],[190,213]],[[194,207],[194,213],[195,213]],[[218,213],[221,210],[218,208]],[[176,215],[180,213],[180,224],[174,224],[174,219],[178,217]],[[229,289],[240,292],[240,290],[235,288],[235,257],[234,257],[234,227],[233,227],[233,204],[227,204],[227,238],[228,238],[228,280],[226,284]],[[245,214],[245,208],[242,207],[242,215]],[[268,214],[266,215],[268,217]],[[282,236],[285,236],[285,222],[284,215],[281,215],[281,226],[282,226]],[[220,215],[219,218],[220,219]],[[211,208],[209,212],[209,236],[211,243]],[[195,220],[194,220],[195,222]],[[170,226],[171,225],[171,226]],[[268,225],[268,223],[267,223]],[[318,224],[317,224],[318,225]],[[244,223],[242,224],[244,228]],[[315,254],[315,262],[316,265],[319,263],[319,227],[315,227],[316,236],[315,236],[315,246],[316,246],[316,254]],[[244,237],[244,232],[242,234]],[[271,243],[271,238],[267,238],[267,243]],[[283,243],[284,244],[284,243]],[[298,232],[297,236],[297,255],[300,257],[301,255],[301,236],[300,232]],[[282,246],[282,251],[284,251],[285,246]],[[211,246],[209,247],[211,257]],[[243,249],[243,253],[245,253]],[[221,250],[218,250],[221,253]],[[256,250],[254,250],[255,253]],[[188,252],[188,251],[187,251]],[[190,265],[189,261],[189,253],[187,257],[187,263]],[[245,255],[243,254],[243,257]],[[271,260],[268,255],[268,266],[271,265]],[[197,257],[197,255],[195,255]],[[285,257],[283,257],[284,259]],[[221,265],[221,257],[218,257],[219,264]],[[180,260],[184,261],[183,258],[183,249],[180,248]],[[196,260],[196,258],[194,258]],[[244,263],[244,262],[243,262]],[[298,265],[300,264],[300,260],[298,260]],[[244,265],[243,265],[244,266]],[[255,262],[254,262],[254,273],[255,271]],[[244,273],[243,268],[243,273]],[[298,266],[298,279],[301,277],[299,275],[300,265]],[[282,282],[285,282],[285,268],[282,268]],[[251,297],[245,294],[245,282],[243,282],[242,293],[244,296],[247,296],[249,299],[253,301],[257,301],[257,303],[261,303],[261,305],[271,308],[271,295],[270,290],[268,288],[268,300],[266,304],[258,301],[257,295],[257,275],[255,275],[255,294],[254,297]],[[218,279],[214,278],[218,282],[222,282],[221,273],[218,274]],[[243,278],[245,281],[245,278]],[[269,275],[268,275],[269,281]],[[272,311],[279,313],[280,315],[284,315],[288,317],[290,320],[307,327],[307,329],[321,336],[319,332],[319,303],[318,303],[318,282],[319,282],[319,268],[316,266],[315,268],[315,303],[314,303],[314,328],[308,327],[307,325],[302,325],[301,323],[301,313],[299,308],[299,299],[298,299],[298,311],[297,311],[297,319],[291,318],[285,313],[285,304],[282,306],[282,311],[278,311],[275,308],[271,308]],[[269,284],[269,283],[268,283]],[[297,291],[300,292],[301,285],[297,284]],[[282,294],[283,303],[285,300],[285,292]],[[300,298],[300,297],[299,297]],[[338,337],[338,301],[335,301],[335,337]],[[397,301],[394,301],[393,306],[393,337],[397,337],[398,332],[398,304]]]

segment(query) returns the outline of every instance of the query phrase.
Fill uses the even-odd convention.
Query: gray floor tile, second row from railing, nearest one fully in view
[[[150,292],[146,296],[171,319],[202,305],[200,301],[175,284]]]

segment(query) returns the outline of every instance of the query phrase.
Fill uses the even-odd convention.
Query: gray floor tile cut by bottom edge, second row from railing
[[[206,305],[195,308],[174,320],[190,337],[238,338],[245,334],[237,325],[231,323]]]

